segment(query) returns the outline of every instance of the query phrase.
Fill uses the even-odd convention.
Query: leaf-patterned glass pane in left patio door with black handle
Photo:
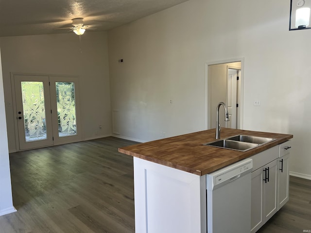
[[[21,82],[25,140],[47,139],[44,90],[42,82]]]

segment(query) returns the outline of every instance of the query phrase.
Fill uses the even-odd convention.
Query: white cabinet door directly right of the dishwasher
[[[264,224],[262,174],[262,167],[252,172],[251,233],[257,232]]]

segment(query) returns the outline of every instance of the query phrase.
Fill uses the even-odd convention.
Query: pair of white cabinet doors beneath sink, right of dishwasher
[[[256,232],[277,212],[278,160],[252,172],[251,232]]]

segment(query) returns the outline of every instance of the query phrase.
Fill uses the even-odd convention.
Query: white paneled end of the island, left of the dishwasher
[[[206,233],[205,176],[134,157],[136,233]]]

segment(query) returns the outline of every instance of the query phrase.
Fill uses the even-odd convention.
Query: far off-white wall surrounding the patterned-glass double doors
[[[82,138],[111,134],[106,32],[0,37],[9,150],[16,150],[10,72],[79,77]],[[100,130],[99,125],[103,128]]]

